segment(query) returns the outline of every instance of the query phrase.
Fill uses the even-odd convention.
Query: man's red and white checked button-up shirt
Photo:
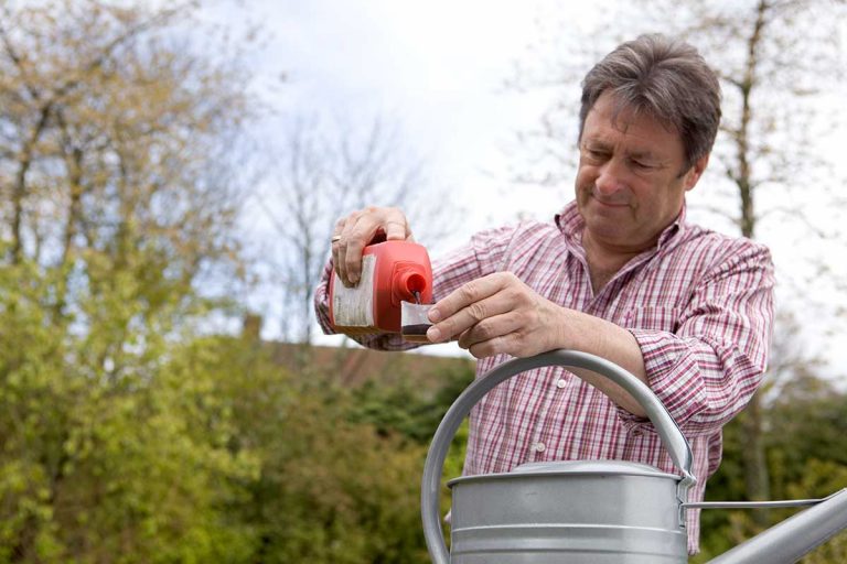
[[[688,438],[701,500],[721,457],[721,427],[750,400],[765,367],[773,323],[770,252],[685,223],[685,210],[656,247],[628,262],[597,294],[575,203],[556,223],[528,221],[480,232],[433,261],[435,300],[465,282],[510,271],[547,300],[610,321],[637,340],[650,387]],[[324,330],[326,284],[315,302]],[[403,349],[398,336],[361,337]],[[478,361],[478,377],[504,362]],[[565,369],[542,368],[498,386],[471,413],[464,474],[508,471],[526,462],[624,459],[677,473],[653,425],[617,406]],[[678,473],[677,473],[678,474]],[[698,545],[699,511],[688,511],[688,547]]]

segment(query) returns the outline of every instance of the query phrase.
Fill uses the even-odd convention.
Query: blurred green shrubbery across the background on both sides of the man
[[[3,269],[0,562],[428,562],[424,456],[469,362],[427,386],[373,373],[342,387],[334,370],[280,366],[254,338],[210,336],[162,345],[165,361],[115,379],[78,362],[90,337],[45,323],[42,282]],[[847,398],[801,383],[764,412],[776,498],[847,486]],[[709,499],[744,498],[740,429],[727,427]],[[461,460],[457,445],[447,475]],[[707,511],[696,562],[757,527],[749,512]],[[844,562],[845,541],[805,562]]]

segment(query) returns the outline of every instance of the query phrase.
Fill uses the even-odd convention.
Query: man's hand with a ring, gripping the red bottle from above
[[[362,275],[362,251],[375,239],[414,241],[406,215],[396,207],[366,207],[342,217],[332,232],[332,263],[341,282],[352,288]]]

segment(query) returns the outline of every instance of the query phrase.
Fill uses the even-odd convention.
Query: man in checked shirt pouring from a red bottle
[[[720,87],[691,46],[662,35],[624,43],[586,76],[576,200],[554,224],[476,234],[435,261],[433,343],[458,339],[478,375],[555,348],[591,352],[644,381],[691,444],[698,479],[721,455],[721,427],[750,400],[773,321],[769,251],[686,223],[685,193],[709,161]],[[336,224],[315,302],[325,330],[332,269],[357,282],[376,235],[411,239],[398,209]],[[397,336],[360,340],[408,348]],[[643,410],[585,371],[544,368],[492,391],[471,415],[465,474],[559,459],[628,459],[675,468]],[[689,551],[699,514],[688,512]]]

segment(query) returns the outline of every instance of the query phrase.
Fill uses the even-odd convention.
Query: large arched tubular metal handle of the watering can
[[[471,383],[447,411],[432,437],[432,443],[429,445],[420,488],[420,512],[424,520],[424,536],[426,538],[427,549],[433,564],[449,564],[450,562],[450,554],[444,545],[441,531],[439,491],[441,488],[441,475],[444,469],[444,459],[455,432],[459,430],[462,421],[464,421],[464,417],[471,412],[471,409],[495,386],[521,372],[546,366],[591,370],[626,390],[644,408],[647,417],[656,427],[662,438],[662,444],[671,454],[671,459],[682,470],[680,497],[685,497],[688,487],[696,481],[691,475],[693,457],[688,441],[686,441],[676,422],[671,417],[671,414],[653,391],[630,372],[609,360],[577,350],[559,349],[529,358],[516,358],[500,365]],[[679,501],[685,502],[687,499],[680,499]]]

